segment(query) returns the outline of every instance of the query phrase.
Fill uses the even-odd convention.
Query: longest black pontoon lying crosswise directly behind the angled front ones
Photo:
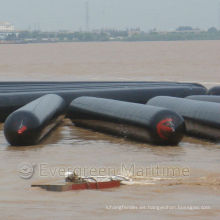
[[[121,88],[73,88],[69,90],[61,89],[56,91],[16,91],[0,93],[0,121],[3,122],[5,118],[16,109],[48,93],[55,93],[60,95],[64,98],[67,104],[80,96],[93,96],[145,104],[149,99],[158,95],[185,97],[189,95],[205,94],[206,89],[197,85],[146,87],[125,86]]]

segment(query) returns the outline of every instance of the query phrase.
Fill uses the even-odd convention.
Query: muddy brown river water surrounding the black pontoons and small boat
[[[177,80],[211,87],[220,83],[219,57],[219,41],[0,45],[0,80]],[[34,165],[32,178],[19,176],[23,163]],[[220,144],[191,137],[179,146],[152,146],[65,120],[39,145],[16,148],[2,124],[0,218],[219,219],[219,164]],[[30,187],[60,180],[68,169],[121,170],[133,183],[62,193]]]

